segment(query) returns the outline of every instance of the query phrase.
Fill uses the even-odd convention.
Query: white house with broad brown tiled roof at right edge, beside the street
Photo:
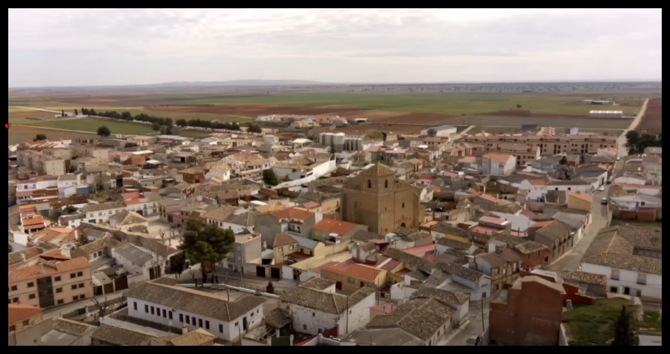
[[[584,253],[581,270],[607,276],[607,291],[662,299],[660,227],[600,230]]]

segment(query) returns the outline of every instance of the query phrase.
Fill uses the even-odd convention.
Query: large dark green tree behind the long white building
[[[187,222],[184,242],[179,249],[185,251],[186,258],[191,264],[200,263],[202,282],[205,282],[207,269],[203,262],[210,262],[212,267],[221,262],[233,249],[233,243],[235,233],[232,230],[219,229],[216,225],[205,225],[200,220],[191,219]]]

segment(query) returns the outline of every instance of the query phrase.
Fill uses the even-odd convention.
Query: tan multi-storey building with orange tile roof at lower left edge
[[[93,296],[91,264],[83,258],[35,257],[9,269],[10,304],[41,308]]]

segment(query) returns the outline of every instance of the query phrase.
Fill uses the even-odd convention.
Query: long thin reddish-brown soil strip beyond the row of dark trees
[[[256,117],[263,114],[337,114],[348,116],[350,112],[361,112],[358,108],[286,107],[280,105],[154,106],[145,107],[145,109],[157,112],[211,113],[247,117]]]

